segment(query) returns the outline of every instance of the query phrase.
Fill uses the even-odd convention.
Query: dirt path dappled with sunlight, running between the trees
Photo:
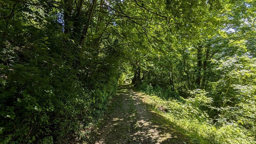
[[[100,128],[93,134],[95,144],[188,144],[180,127],[154,111],[148,95],[131,84],[119,85]]]

